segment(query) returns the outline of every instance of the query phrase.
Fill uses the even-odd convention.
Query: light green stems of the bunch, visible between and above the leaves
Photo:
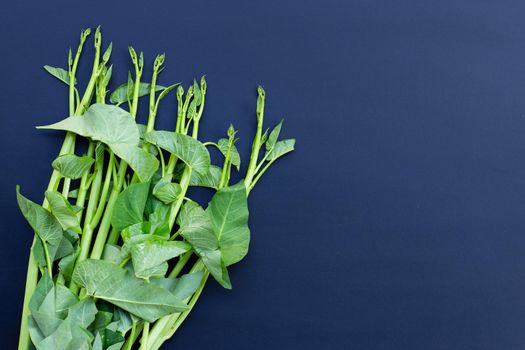
[[[111,44],[104,52],[102,52],[102,34],[100,28],[97,28],[94,32],[95,55],[93,58],[93,68],[89,82],[83,91],[83,94],[80,94],[75,84],[79,60],[84,45],[90,34],[91,30],[89,29],[82,31],[80,35],[80,43],[74,56],[71,50],[69,51],[68,77],[70,116],[82,115],[92,103],[106,103],[108,84],[112,73],[112,66],[109,65]],[[144,69],[144,59],[143,54],[137,54],[137,52],[132,47],[129,48],[129,53],[134,68],[134,75],[133,78],[130,78],[130,81],[128,81],[128,89],[130,89],[128,91],[128,108],[131,116],[136,118],[140,97],[140,86]],[[147,117],[146,132],[154,130],[159,102],[164,97],[164,93],[161,93],[160,95],[157,93],[157,78],[163,68],[164,59],[165,56],[163,54],[158,55],[153,64],[153,73],[149,85],[149,112]],[[174,131],[177,133],[190,135],[193,138],[197,138],[199,133],[199,123],[203,115],[206,97],[206,81],[204,77],[201,79],[200,83],[195,84],[197,84],[200,94],[200,104],[198,104],[196,110],[191,110],[191,101],[193,98],[195,98],[193,85],[190,85],[186,93],[184,92],[182,86],[177,84],[168,88],[169,90],[176,88],[178,108],[177,121]],[[260,89],[257,103],[257,131],[253,141],[252,154],[245,176],[247,193],[253,189],[262,174],[271,164],[271,162],[265,163],[267,160],[266,157],[264,157],[262,160],[259,160],[261,146],[264,143],[265,137],[267,136],[266,134],[263,135],[262,132],[263,119],[264,91]],[[232,165],[230,150],[236,141],[237,139],[235,138],[235,131],[233,127],[230,127],[228,130],[228,150],[224,157],[220,183],[218,186],[219,189],[226,187],[229,184]],[[59,156],[75,154],[76,145],[76,135],[72,132],[68,132],[65,136],[62,147],[60,148]],[[216,144],[207,143],[207,145]],[[174,175],[177,163],[179,161],[176,156],[171,154],[169,159],[165,161],[164,154],[160,149],[155,150],[151,144],[146,142],[143,143],[142,147],[146,151],[157,152],[161,161],[161,174],[163,177],[168,176],[171,178]],[[126,162],[122,159],[119,159],[113,154],[113,152],[111,152],[108,147],[105,147],[103,144],[90,140],[86,153],[88,156],[95,158],[96,161],[92,167],[92,170],[83,175],[79,180],[78,188],[75,190],[74,195],[71,189],[71,179],[62,177],[57,170],[53,170],[49,185],[47,186],[47,190],[60,191],[65,198],[76,198],[75,205],[79,208],[77,215],[79,222],[82,223],[82,234],[80,236],[79,250],[75,264],[78,264],[88,258],[101,259],[104,248],[107,244],[117,244],[119,242],[120,232],[112,229],[111,227],[113,209],[119,194],[126,188],[126,186],[139,181],[136,175],[130,176]],[[266,165],[263,166],[264,164]],[[177,197],[177,200],[171,204],[168,212],[167,220],[170,231],[173,229],[177,215],[186,199],[186,192],[190,186],[191,176],[191,167],[185,166],[179,182],[181,194]],[[43,207],[48,208],[49,203],[44,201]],[[175,232],[171,235],[170,239],[175,239],[177,236],[178,232]],[[35,237],[33,245],[35,244],[36,239],[37,238]],[[134,318],[131,331],[126,338],[123,349],[131,349],[139,338],[140,349],[158,349],[163,342],[169,339],[177,331],[182,322],[188,317],[195,303],[199,299],[209,276],[209,273],[206,271],[202,260],[199,258],[194,259],[194,254],[194,252],[189,251],[180,256],[173,268],[167,274],[167,277],[174,278],[179,276],[183,269],[189,269],[190,272],[204,271],[199,288],[193,293],[192,296],[190,296],[187,300],[184,300],[184,302],[186,302],[189,306],[188,309],[181,313],[162,317],[151,324],[143,320],[135,320]],[[48,254],[46,251],[46,256],[47,255]],[[194,265],[192,267],[186,266],[186,264],[190,261],[195,261]],[[50,277],[53,278],[53,263],[47,256],[47,268],[44,269],[39,267],[32,249],[27,269],[19,350],[29,349],[30,346],[28,331],[29,300],[35,291],[39,277],[44,273],[49,273]],[[63,276],[61,276],[61,273],[58,272],[55,278],[60,280],[63,279]],[[68,287],[74,294],[79,296],[79,298],[89,297],[86,295],[86,292],[79,288],[79,286],[77,286],[73,281],[69,282]]]

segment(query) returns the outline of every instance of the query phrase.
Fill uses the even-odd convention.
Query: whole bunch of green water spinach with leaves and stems
[[[66,131],[43,204],[17,187],[20,210],[35,233],[20,350],[158,349],[191,312],[209,275],[231,288],[227,268],[243,259],[250,241],[247,197],[294,149],[293,139],[279,140],[282,122],[263,131],[259,87],[246,174],[230,184],[232,167],[241,165],[234,127],[216,142],[198,140],[205,78],[186,91],[180,84],[161,86],[165,57],[158,55],[146,83],[143,54],[130,47],[133,74],[108,95],[112,45],[102,50],[97,28],[91,77],[81,93],[76,75],[90,35],[81,32],[67,69],[44,67],[68,87],[70,116],[39,127]],[[156,130],[159,103],[173,95],[175,129]],[[143,96],[146,125],[135,122]],[[78,155],[82,138],[88,146]],[[211,164],[209,148],[222,153],[221,165]],[[192,186],[215,191],[205,208],[188,198]]]

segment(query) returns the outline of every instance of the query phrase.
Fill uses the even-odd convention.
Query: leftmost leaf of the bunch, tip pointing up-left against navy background
[[[53,248],[53,251],[56,251],[63,236],[62,227],[58,220],[49,211],[22,196],[20,186],[16,187],[16,199],[20,211],[37,236],[48,245],[48,248]],[[54,256],[51,254],[51,249],[50,255]]]

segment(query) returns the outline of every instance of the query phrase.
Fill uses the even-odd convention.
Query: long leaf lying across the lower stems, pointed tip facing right
[[[187,310],[187,306],[167,290],[136,278],[127,270],[104,260],[84,260],[73,280],[87,294],[106,300],[148,321]]]

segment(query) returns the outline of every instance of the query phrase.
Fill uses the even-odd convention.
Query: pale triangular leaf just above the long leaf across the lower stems
[[[126,251],[131,253],[135,276],[149,279],[160,273],[163,276],[168,264],[166,261],[186,253],[191,246],[182,241],[167,241],[155,235],[139,235],[124,243]],[[159,265],[163,265],[159,268]]]

